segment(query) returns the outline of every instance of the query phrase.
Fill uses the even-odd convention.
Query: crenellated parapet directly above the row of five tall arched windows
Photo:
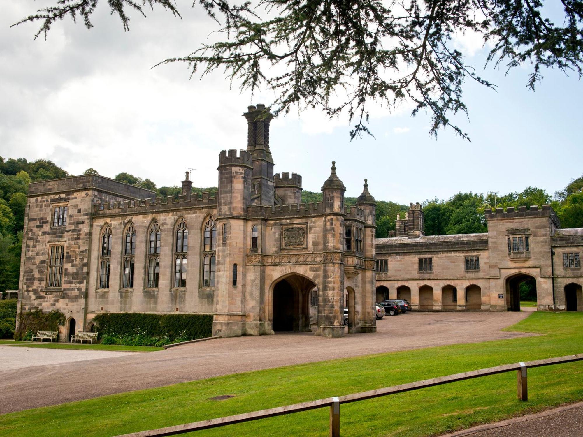
[[[192,194],[190,200],[183,194],[168,196],[167,198],[151,198],[124,200],[120,202],[104,202],[93,205],[94,216],[107,216],[110,214],[145,213],[184,207],[215,207],[217,205],[218,192],[210,196],[209,192],[203,192],[200,197]]]

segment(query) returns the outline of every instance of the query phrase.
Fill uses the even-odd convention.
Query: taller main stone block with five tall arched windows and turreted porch
[[[248,107],[247,149],[219,154],[218,192],[154,192],[99,175],[30,184],[19,311],[59,309],[61,339],[103,312],[213,315],[213,335],[375,332],[375,200],[345,207],[332,171],[323,202],[273,174],[271,114]],[[344,300],[347,293],[347,302]]]

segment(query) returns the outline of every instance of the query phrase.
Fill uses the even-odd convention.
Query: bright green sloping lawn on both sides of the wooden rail
[[[545,334],[239,373],[0,416],[4,436],[110,436],[361,392],[518,361],[583,352],[583,313],[536,312],[507,330]],[[334,341],[334,340],[330,340]],[[487,376],[340,407],[345,436],[437,435],[583,400],[583,363]],[[212,401],[209,397],[233,394]],[[200,431],[203,436],[328,433],[328,409]]]

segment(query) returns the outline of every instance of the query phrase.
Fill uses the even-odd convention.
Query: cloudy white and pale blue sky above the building
[[[69,18],[33,41],[37,24],[9,28],[44,4],[4,2],[0,16],[0,156],[45,158],[71,174],[89,167],[114,177],[125,171],[157,186],[180,185],[192,167],[195,186],[217,184],[220,150],[245,149],[241,114],[247,105],[269,104],[269,94],[240,93],[215,74],[189,80],[185,64],[151,68],[168,57],[188,55],[216,29],[198,6],[178,2],[183,19],[131,13],[131,30],[110,16],[105,1],[88,31]],[[364,178],[377,199],[399,203],[447,199],[458,191],[549,192],[583,174],[583,83],[545,71],[536,92],[526,89],[530,70],[504,76],[482,71],[484,49],[476,38],[456,41],[468,61],[497,91],[465,87],[469,119],[456,122],[472,139],[452,131],[430,138],[430,117],[406,107],[371,114],[376,139],[349,140],[346,118],[329,121],[318,112],[297,112],[272,121],[275,172],[297,172],[303,187],[319,191],[336,161],[347,196]]]

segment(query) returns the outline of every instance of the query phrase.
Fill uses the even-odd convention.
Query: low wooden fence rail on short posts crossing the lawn
[[[582,361],[583,354],[567,355],[566,357],[546,358],[546,360],[517,362],[514,364],[503,364],[501,366],[479,369],[471,372],[456,373],[455,375],[440,376],[438,378],[425,379],[422,381],[410,382],[407,384],[385,387],[383,389],[369,390],[368,392],[347,394],[346,396],[327,397],[301,404],[287,405],[285,407],[268,408],[267,410],[252,411],[251,413],[236,414],[233,416],[219,417],[216,419],[202,420],[189,424],[175,425],[173,427],[151,429],[150,431],[132,432],[118,437],[150,437],[183,434],[185,432],[198,431],[199,429],[208,429],[224,427],[241,422],[265,419],[283,414],[299,413],[300,411],[315,410],[317,408],[330,408],[330,436],[338,437],[340,435],[340,404],[357,402],[374,397],[388,396],[389,394],[410,392],[427,387],[434,387],[451,382],[463,381],[466,379],[482,378],[482,376],[497,375],[498,373],[517,371],[517,396],[518,399],[528,400],[528,385],[526,378],[526,369],[553,364],[563,364],[566,362]]]

